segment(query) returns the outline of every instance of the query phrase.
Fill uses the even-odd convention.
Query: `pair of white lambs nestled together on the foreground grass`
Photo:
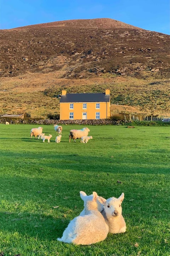
[[[58,241],[91,245],[103,241],[108,233],[126,231],[121,208],[124,193],[119,198],[111,197],[106,200],[96,192],[87,196],[85,192],[80,191],[80,197],[84,201],[84,209],[78,217],[70,221]]]

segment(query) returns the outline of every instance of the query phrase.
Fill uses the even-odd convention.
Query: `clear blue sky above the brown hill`
[[[112,18],[170,34],[169,0],[0,0],[0,29],[39,23]]]

